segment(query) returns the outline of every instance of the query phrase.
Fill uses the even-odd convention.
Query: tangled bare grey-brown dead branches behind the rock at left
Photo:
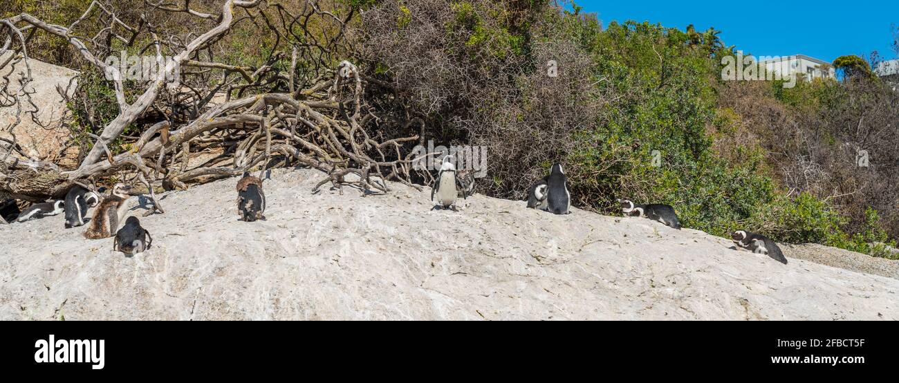
[[[420,120],[408,113],[385,107],[379,98],[390,97],[389,85],[360,72],[349,61],[336,63],[341,55],[342,37],[350,14],[340,18],[323,12],[312,0],[302,5],[298,14],[279,4],[261,0],[227,0],[220,13],[205,13],[191,8],[190,1],[181,7],[146,0],[154,12],[180,14],[184,17],[214,22],[207,31],[196,33],[190,41],[164,33],[143,17],[137,26],[122,22],[103,4],[93,1],[85,13],[68,27],[51,25],[30,14],[0,20],[0,71],[10,72],[22,63],[27,68],[31,59],[28,46],[38,32],[65,40],[95,69],[110,75],[109,85],[115,94],[119,113],[103,125],[97,134],[88,134],[93,147],[74,169],[35,161],[17,150],[15,136],[0,147],[0,200],[7,198],[38,201],[58,197],[73,183],[91,182],[112,175],[133,176],[147,187],[156,203],[154,188],[183,188],[188,183],[207,182],[220,177],[242,174],[255,167],[264,172],[276,165],[298,163],[327,173],[319,184],[347,183],[344,176],[357,174],[355,184],[369,191],[387,191],[386,183],[372,183],[372,176],[411,183],[412,158],[408,145],[419,142],[420,135],[410,128]],[[237,13],[240,16],[237,16]],[[186,16],[185,16],[186,15]],[[314,36],[310,20],[330,23],[332,33],[326,39]],[[262,67],[215,61],[210,53],[237,21],[249,20],[274,31],[278,43]],[[275,22],[278,21],[278,22]],[[96,22],[104,28],[93,38],[79,36],[81,23]],[[165,71],[181,70],[180,83],[166,88],[170,81],[160,71],[146,79],[134,101],[126,96],[120,68],[108,65],[102,55],[111,53],[112,42],[131,47],[138,37],[149,36],[144,50],[155,53],[164,62],[164,53],[173,58]],[[289,47],[290,54],[279,49]],[[151,50],[152,49],[152,50]],[[302,73],[298,61],[305,63]],[[283,69],[289,62],[287,73]],[[20,84],[0,82],[0,107],[16,108],[16,121],[0,127],[12,133],[23,118],[38,122],[36,107],[31,102],[30,73]],[[69,90],[59,90],[69,102]],[[393,108],[393,109],[392,109]],[[176,111],[188,111],[182,118]],[[123,132],[139,126],[138,135]],[[128,150],[114,154],[113,142],[123,143]],[[213,153],[214,157],[200,165],[191,165],[196,153]],[[275,158],[277,156],[277,158]],[[105,158],[104,158],[105,157]],[[130,174],[130,175],[129,175]],[[317,189],[317,187],[316,187]]]

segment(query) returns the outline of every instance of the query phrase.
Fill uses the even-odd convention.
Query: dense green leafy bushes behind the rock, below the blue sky
[[[444,91],[441,95],[476,97],[480,103],[469,106],[465,102],[448,102],[446,109],[439,109],[437,115],[441,119],[432,119],[432,124],[440,127],[438,137],[486,144],[494,149],[509,142],[521,142],[517,136],[521,131],[530,131],[533,121],[546,121],[539,133],[528,134],[534,139],[524,140],[526,143],[522,144],[527,151],[538,152],[543,158],[506,154],[501,148],[494,150],[500,152],[499,158],[493,156],[500,164],[491,165],[494,184],[489,191],[495,195],[521,197],[520,177],[532,182],[552,161],[561,161],[566,165],[575,200],[587,209],[617,213],[617,198],[664,202],[679,211],[686,227],[717,236],[743,228],[783,242],[820,243],[895,257],[886,251],[886,245],[895,242],[886,234],[876,209],[867,204],[859,209],[855,201],[850,202],[853,209],[841,209],[846,206],[838,206],[828,198],[831,194],[827,192],[831,190],[790,187],[784,161],[771,155],[770,149],[786,142],[766,132],[787,127],[764,126],[765,121],[749,112],[754,102],[761,102],[773,108],[770,113],[778,111],[793,119],[787,122],[802,122],[857,95],[847,89],[850,85],[834,80],[800,82],[793,89],[784,89],[782,82],[725,84],[720,75],[721,58],[734,54],[734,48],[725,47],[717,37],[718,31],[695,31],[692,27],[679,31],[646,22],[613,22],[602,28],[595,16],[581,13],[576,5],[559,12],[539,4],[522,7],[512,2],[455,1],[449,4],[456,18],[444,21],[427,16],[434,12],[433,8],[441,6],[440,1],[428,2],[435,3],[433,7],[403,4],[394,8],[396,2],[385,3],[379,12],[387,14],[381,17],[401,21],[393,24],[396,29],[413,31],[416,22],[447,24],[445,36],[431,39],[450,51],[464,49],[466,55],[440,58],[441,61],[462,68],[473,67],[472,61],[489,64],[495,70],[491,73],[493,81],[501,81],[497,78],[502,76],[512,78],[502,86],[512,87],[515,92],[512,97],[503,94],[500,98],[503,101],[512,98],[512,102],[494,102],[497,98],[492,96],[501,94],[497,91],[472,94],[467,89],[441,86]],[[508,14],[519,16],[503,17]],[[455,23],[460,20],[466,22],[468,33],[458,33]],[[529,23],[522,25],[521,20]],[[386,24],[378,25],[376,21],[366,25],[363,28],[375,30],[372,34],[379,40],[387,36],[396,38],[395,46],[404,41],[414,44],[412,33],[408,37],[391,36],[378,30],[388,28]],[[542,94],[543,98],[532,94],[543,83],[532,76],[539,76],[544,70],[541,61],[547,55],[541,55],[540,49],[544,44],[558,44],[559,40],[574,44],[577,55],[590,60],[590,77],[580,80],[592,83],[594,89],[589,92],[601,103],[597,113],[588,114],[592,118],[589,123],[569,127],[572,129],[555,128],[550,121],[571,121],[567,116],[575,113],[572,109],[581,108],[583,102],[578,105],[556,102],[553,92]],[[401,78],[400,85],[411,94],[423,95],[415,101],[433,105],[425,91],[439,80],[417,76],[415,67],[423,67],[424,63],[404,67],[409,51],[394,52],[396,49],[380,49],[369,59],[379,67],[388,67],[390,70],[381,72],[386,72],[387,77]],[[433,59],[435,54],[444,51],[435,53],[432,48],[423,47],[418,53]],[[567,59],[560,60],[560,71],[566,65],[578,65],[566,53],[570,52],[556,51],[548,55]],[[494,65],[494,61],[515,62],[517,66],[510,70]],[[863,66],[858,60],[844,58],[838,64],[846,72],[863,70],[859,69]],[[877,81],[867,77],[866,80]],[[408,78],[414,80],[410,82]],[[468,78],[478,81],[477,76]],[[543,86],[553,85],[543,83]],[[734,87],[747,87],[758,93],[755,94],[758,98],[734,100],[731,93],[748,92]],[[573,94],[563,96],[574,97]],[[530,105],[535,99],[548,105],[548,110]],[[735,107],[734,102],[738,104]],[[484,111],[485,108],[514,108],[510,103],[524,105],[512,121],[503,111]],[[467,110],[460,110],[459,105]],[[543,119],[539,118],[540,114]],[[449,118],[454,115],[465,117]],[[463,122],[456,122],[459,120]],[[473,122],[466,123],[467,120]],[[787,125],[785,121],[780,122]],[[487,125],[512,127],[515,131],[487,138],[496,130],[485,131],[483,127]],[[556,148],[564,150],[542,147],[541,140],[551,141],[547,135],[560,135],[568,141],[555,142]],[[743,139],[747,135],[753,139]],[[843,142],[835,134],[825,133],[818,142],[805,144],[836,146],[838,141]],[[795,158],[786,161],[795,162]],[[854,165],[852,161],[848,159],[844,167]],[[541,172],[514,172],[507,164],[542,169]],[[859,212],[855,220],[850,217],[850,210]]]

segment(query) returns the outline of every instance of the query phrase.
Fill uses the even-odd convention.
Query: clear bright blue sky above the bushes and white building
[[[583,12],[611,21],[661,23],[683,30],[715,27],[721,39],[755,56],[804,54],[832,62],[877,50],[895,58],[890,26],[899,26],[899,0],[692,1],[575,0]]]

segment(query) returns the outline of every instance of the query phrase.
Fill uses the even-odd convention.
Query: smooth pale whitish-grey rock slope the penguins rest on
[[[897,280],[695,230],[481,195],[432,211],[396,184],[310,193],[321,177],[274,171],[257,223],[237,221],[236,179],[167,193],[132,258],[61,217],[0,227],[0,318],[899,319]]]

